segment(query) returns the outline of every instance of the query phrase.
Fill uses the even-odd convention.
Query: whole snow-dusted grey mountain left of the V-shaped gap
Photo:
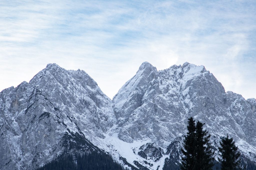
[[[85,135],[104,138],[115,122],[97,83],[57,64],[3,90],[0,111],[0,169],[34,169],[62,153],[99,150]]]

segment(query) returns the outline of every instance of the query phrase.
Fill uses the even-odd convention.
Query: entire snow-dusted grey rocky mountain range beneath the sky
[[[0,93],[0,169],[38,169],[69,157],[76,164],[77,155],[91,153],[124,169],[179,169],[190,116],[211,134],[215,169],[226,134],[247,169],[256,169],[255,108],[255,99],[225,92],[204,66],[188,62],[159,71],[143,62],[113,100],[86,72],[48,64]]]

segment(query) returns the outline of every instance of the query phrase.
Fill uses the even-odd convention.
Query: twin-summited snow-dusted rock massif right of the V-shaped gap
[[[127,142],[150,138],[167,146],[166,141],[185,132],[189,115],[200,119],[220,109],[223,94],[224,88],[203,66],[185,63],[157,71],[145,62],[113,98],[115,113],[127,113],[119,114],[118,121],[125,120],[120,139],[124,134],[130,137]]]

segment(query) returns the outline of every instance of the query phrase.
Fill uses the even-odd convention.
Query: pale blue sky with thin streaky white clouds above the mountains
[[[256,1],[0,1],[0,91],[57,63],[112,98],[144,61],[204,65],[256,98]]]

